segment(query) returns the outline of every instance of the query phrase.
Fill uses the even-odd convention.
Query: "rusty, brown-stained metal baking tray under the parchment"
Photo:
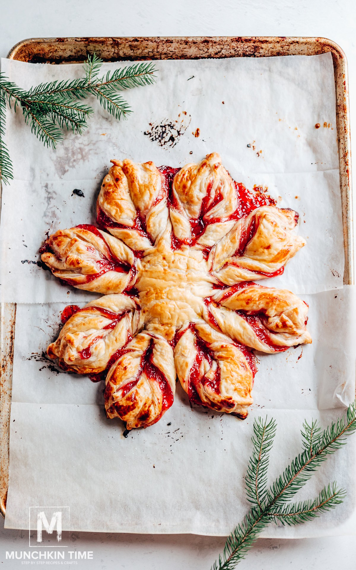
[[[354,284],[351,193],[350,112],[347,61],[341,48],[326,38],[180,37],[180,38],[31,38],[16,44],[9,59],[31,63],[80,63],[96,52],[104,61],[264,58],[331,52],[334,64],[342,223],[345,247],[343,282]],[[0,510],[5,516],[9,482],[11,384],[16,305],[0,304]]]

